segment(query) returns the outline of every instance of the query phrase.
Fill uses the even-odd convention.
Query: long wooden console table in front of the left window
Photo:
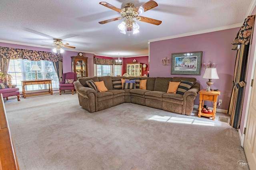
[[[23,80],[23,81],[21,81],[21,83],[22,83],[22,94],[23,94],[24,98],[26,98],[28,96],[53,94],[52,93],[52,80],[51,79],[46,79],[46,80]],[[26,85],[34,85],[34,84],[49,84],[49,90],[48,90],[48,92],[37,92],[37,93],[32,93],[32,94],[26,94],[25,86]]]

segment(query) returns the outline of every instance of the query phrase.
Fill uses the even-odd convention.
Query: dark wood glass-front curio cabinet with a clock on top
[[[82,53],[71,57],[72,72],[76,72],[77,79],[81,77],[88,77],[88,57],[84,57]]]

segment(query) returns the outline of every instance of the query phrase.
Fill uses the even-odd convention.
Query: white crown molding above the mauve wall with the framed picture
[[[180,38],[180,37],[187,37],[187,36],[190,36],[190,35],[198,35],[198,34],[203,34],[203,33],[214,32],[214,31],[222,31],[222,30],[225,30],[225,29],[241,27],[242,25],[243,25],[243,23],[237,23],[237,24],[228,25],[228,26],[225,26],[225,27],[206,29],[206,30],[202,30],[202,31],[192,32],[192,33],[184,33],[184,34],[179,34],[179,35],[173,35],[173,36],[170,36],[170,37],[150,39],[150,40],[148,40],[148,42],[150,43],[150,42],[154,42],[154,41],[162,41],[162,40],[166,40],[166,39],[174,39],[174,38]]]

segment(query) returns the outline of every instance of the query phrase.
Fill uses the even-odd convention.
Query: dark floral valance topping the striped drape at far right
[[[252,34],[254,20],[255,20],[255,15],[248,16],[245,19],[244,24],[242,25],[235,39],[232,42],[233,44],[232,50],[238,50],[238,46],[237,46],[238,44],[248,45],[248,43],[250,42],[251,34]]]

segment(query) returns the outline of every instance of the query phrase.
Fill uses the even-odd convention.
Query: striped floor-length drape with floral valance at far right
[[[232,50],[237,50],[236,63],[234,70],[234,81],[228,114],[230,114],[230,125],[236,129],[240,126],[242,115],[242,106],[244,102],[244,92],[246,87],[247,70],[248,70],[248,53],[250,49],[250,37],[252,37],[254,27],[254,16],[248,16],[239,32],[237,33],[232,44]],[[240,45],[240,48],[238,48]]]

